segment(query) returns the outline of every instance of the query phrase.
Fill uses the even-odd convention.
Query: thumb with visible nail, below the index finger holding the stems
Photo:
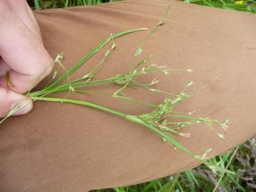
[[[32,109],[33,103],[24,95],[13,91],[7,92],[6,89],[0,87],[0,106],[0,117],[6,117],[16,106],[21,108],[12,115],[28,113]]]

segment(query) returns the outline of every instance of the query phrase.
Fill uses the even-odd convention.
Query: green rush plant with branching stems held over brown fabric
[[[170,6],[169,6],[170,7]],[[107,58],[110,53],[116,48],[116,44],[114,43],[114,38],[119,38],[120,36],[128,35],[129,33],[135,33],[137,31],[145,31],[146,28],[134,28],[129,31],[122,31],[120,33],[115,33],[113,35],[110,35],[105,40],[103,40],[100,44],[98,44],[95,48],[93,48],[90,53],[85,55],[84,58],[78,61],[78,63],[75,63],[71,68],[65,69],[65,66],[62,64],[63,60],[63,54],[60,53],[57,55],[55,60],[51,63],[51,65],[48,65],[48,67],[44,68],[43,73],[39,75],[38,80],[41,80],[43,77],[45,77],[46,74],[48,74],[48,70],[53,67],[53,65],[59,65],[58,70],[56,70],[53,73],[53,78],[50,80],[48,85],[44,87],[41,90],[31,91],[28,90],[26,92],[26,97],[31,98],[31,101],[28,101],[27,103],[20,102],[14,105],[14,107],[11,108],[9,113],[6,115],[4,119],[0,121],[0,124],[4,122],[8,117],[10,117],[12,114],[17,113],[19,110],[21,110],[23,107],[27,107],[31,105],[31,102],[35,102],[37,100],[46,101],[46,102],[60,102],[60,103],[71,103],[74,105],[82,105],[85,107],[93,107],[97,110],[102,110],[104,112],[117,115],[121,118],[127,119],[130,122],[134,122],[137,124],[140,124],[147,129],[150,129],[151,132],[154,132],[154,134],[161,137],[161,139],[164,140],[164,142],[171,144],[172,146],[178,149],[181,149],[186,152],[186,154],[189,154],[193,156],[198,161],[201,161],[201,163],[206,164],[210,169],[212,169],[214,172],[222,171],[222,169],[219,166],[215,166],[213,164],[210,164],[210,162],[206,161],[208,159],[208,154],[210,153],[210,149],[205,151],[203,154],[196,155],[193,154],[192,151],[189,149],[186,149],[181,145],[179,142],[176,141],[175,137],[177,135],[182,137],[190,137],[190,134],[183,132],[182,128],[187,127],[191,124],[206,124],[210,129],[213,129],[214,132],[215,128],[214,126],[222,127],[223,130],[227,129],[227,123],[228,119],[225,119],[223,122],[220,122],[218,120],[210,119],[207,117],[193,117],[191,113],[189,112],[176,112],[176,105],[180,105],[184,100],[188,100],[190,97],[192,97],[194,94],[188,94],[186,91],[188,90],[191,85],[193,85],[193,82],[189,82],[188,85],[184,86],[183,90],[179,93],[170,93],[166,92],[164,90],[157,90],[154,88],[154,85],[158,83],[158,80],[153,79],[151,82],[148,83],[142,83],[137,80],[137,77],[141,77],[143,75],[149,75],[149,74],[164,74],[169,75],[169,73],[173,70],[178,71],[184,71],[187,73],[191,73],[191,69],[169,69],[162,65],[156,65],[154,61],[151,60],[151,55],[147,55],[146,57],[139,57],[142,56],[143,48],[146,45],[146,42],[148,39],[154,34],[154,32],[160,27],[164,25],[164,18],[166,14],[169,12],[169,7],[164,13],[164,16],[162,17],[161,21],[156,25],[156,27],[149,32],[149,34],[143,39],[142,43],[139,44],[139,47],[134,53],[134,58],[132,61],[131,68],[129,70],[129,73],[127,74],[117,74],[110,76],[109,78],[101,79],[101,80],[95,80],[95,76],[97,75],[97,72],[101,69],[102,65],[104,64],[105,59]],[[72,75],[75,73],[76,70],[79,70],[79,68],[84,65],[84,63],[92,58],[93,55],[95,55],[97,52],[99,52],[104,46],[110,43],[110,47],[105,52],[104,57],[102,60],[100,60],[99,63],[95,65],[95,67],[87,74],[82,75],[82,77],[73,80]],[[58,75],[60,72],[60,69],[63,69],[65,73],[63,75]],[[9,79],[9,80],[6,80]],[[6,86],[8,84],[13,83],[13,79],[10,73],[9,75],[6,75],[6,79],[4,83],[6,83]],[[15,80],[15,79],[14,79]],[[68,80],[68,82],[64,82],[64,80]],[[34,83],[33,85],[35,85]],[[90,90],[87,90],[87,87],[92,86],[104,86],[104,85],[119,85],[119,89],[117,89],[115,92],[109,93],[109,92],[93,92]],[[144,102],[142,100],[138,100],[134,97],[127,97],[124,95],[123,90],[129,89],[129,87],[139,87],[142,89],[146,89],[152,92],[155,92],[156,94],[164,94],[166,95],[166,99],[163,100],[159,105],[154,105],[148,102]],[[67,92],[66,97],[49,97],[50,94],[54,92]],[[151,112],[148,112],[146,114],[125,114],[123,112],[119,112],[117,110],[114,110],[112,108],[104,107],[102,105],[97,105],[96,103],[87,102],[84,100],[72,100],[68,98],[68,95],[70,93],[92,93],[92,94],[101,94],[104,96],[111,96],[119,100],[125,100],[128,102],[139,102],[142,105],[148,105],[153,108]],[[10,93],[12,94],[12,93]],[[25,97],[24,96],[24,97]],[[175,120],[174,120],[175,119]],[[180,119],[177,121],[177,119]],[[224,138],[223,134],[220,134],[216,132],[220,138]]]

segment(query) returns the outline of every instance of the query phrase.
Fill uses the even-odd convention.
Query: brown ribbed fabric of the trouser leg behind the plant
[[[65,55],[69,67],[110,33],[153,28],[169,1],[127,0],[100,6],[36,12],[46,48],[53,58]],[[182,105],[183,111],[213,119],[230,118],[222,140],[206,125],[186,128],[192,136],[178,142],[197,154],[210,147],[211,156],[245,142],[256,125],[256,16],[173,2],[166,25],[144,49],[156,63],[189,68],[194,73],[164,76],[161,90],[180,92],[189,80],[201,89]],[[99,78],[126,73],[146,31],[115,40]],[[75,76],[85,74],[104,55],[95,55]],[[218,79],[213,80],[216,76]],[[147,77],[146,80],[150,80]],[[213,80],[213,81],[212,81]],[[114,92],[117,87],[99,89]],[[97,89],[97,90],[99,90]],[[164,98],[145,90],[129,90],[159,104]],[[99,95],[71,95],[129,114],[149,112],[131,102]],[[0,127],[0,191],[86,191],[149,181],[198,165],[145,127],[105,112],[75,105],[36,102],[33,111],[12,117]],[[218,129],[220,131],[220,129]]]

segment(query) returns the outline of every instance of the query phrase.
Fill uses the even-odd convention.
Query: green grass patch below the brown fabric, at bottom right
[[[234,174],[223,174],[223,178],[216,177],[206,166],[184,171],[173,176],[142,183],[134,186],[118,187],[113,189],[97,190],[97,192],[197,192],[206,191],[255,191],[256,185],[256,137],[241,144],[226,154],[216,156],[214,164],[223,167]],[[220,181],[217,186],[218,181]],[[215,189],[216,188],[216,189]],[[92,192],[92,191],[91,191]],[[96,192],[93,191],[93,192]]]

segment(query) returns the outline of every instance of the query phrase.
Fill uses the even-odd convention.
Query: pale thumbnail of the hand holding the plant
[[[27,114],[33,108],[33,103],[31,100],[19,100],[11,104],[11,110],[14,110],[14,113],[11,115],[21,115]]]

